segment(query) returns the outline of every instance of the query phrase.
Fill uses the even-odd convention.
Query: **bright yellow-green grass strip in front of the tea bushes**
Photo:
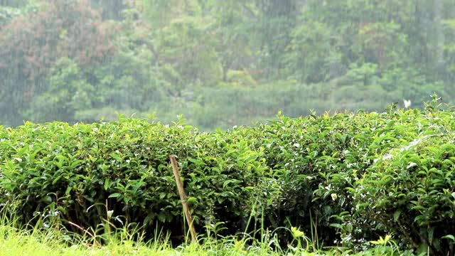
[[[17,228],[15,220],[1,218],[0,255],[412,255],[400,252],[390,237],[373,241],[370,250],[353,253],[343,248],[332,247],[317,249],[311,239],[297,228],[289,232],[294,241],[287,247],[280,247],[277,235],[267,230],[259,230],[261,238],[249,235],[243,238],[220,237],[222,223],[208,228],[208,233],[200,236],[198,243],[186,243],[172,247],[166,236],[155,234],[155,242],[145,242],[143,236],[134,231],[119,229],[95,237],[92,234],[77,235],[68,233],[60,225],[45,228],[38,222],[34,227]],[[97,241],[104,241],[100,245]]]

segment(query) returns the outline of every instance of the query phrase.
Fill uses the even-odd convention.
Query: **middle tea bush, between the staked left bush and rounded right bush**
[[[300,225],[325,244],[333,244],[338,235],[331,227],[331,217],[352,208],[346,188],[370,166],[369,154],[376,154],[369,149],[373,142],[369,125],[381,125],[389,116],[339,113],[280,117],[254,128],[261,131],[257,147],[264,149],[267,165],[282,185],[282,199],[271,222]],[[385,145],[383,150],[393,146]]]

